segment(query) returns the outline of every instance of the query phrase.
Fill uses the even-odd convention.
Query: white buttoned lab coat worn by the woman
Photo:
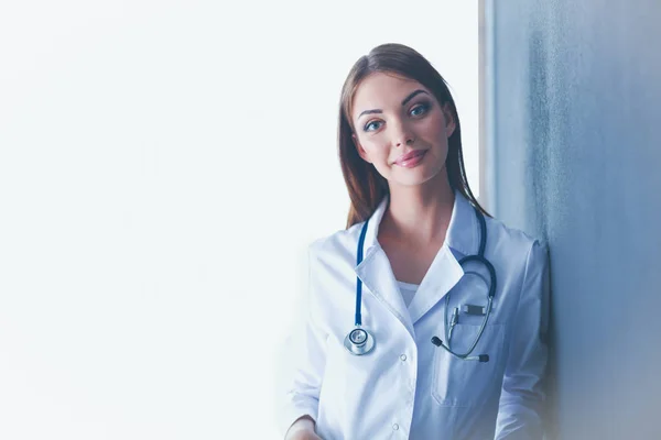
[[[540,381],[546,365],[546,246],[486,217],[485,255],[497,274],[494,308],[474,355],[458,360],[431,343],[446,341],[449,306],[486,305],[488,288],[462,256],[476,254],[479,222],[455,191],[446,240],[407,307],[377,241],[384,199],[369,220],[365,258],[356,266],[364,223],[317,240],[308,249],[308,314],[293,334],[295,358],[280,396],[282,432],[303,415],[324,440],[541,439]],[[354,328],[356,276],[362,280],[362,327],[376,340],[367,355],[344,348]],[[452,310],[451,309],[451,310]],[[452,348],[473,342],[481,317],[462,315]]]

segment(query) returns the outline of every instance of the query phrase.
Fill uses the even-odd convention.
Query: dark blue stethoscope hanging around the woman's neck
[[[444,349],[449,354],[452,354],[458,359],[465,360],[465,361],[489,362],[488,354],[479,354],[477,356],[470,355],[473,353],[473,350],[475,350],[475,346],[479,342],[479,339],[481,338],[481,336],[485,331],[485,327],[487,326],[489,315],[491,314],[491,306],[494,304],[494,295],[496,294],[496,280],[497,280],[496,279],[496,270],[494,268],[494,265],[484,256],[485,255],[485,246],[486,246],[486,242],[487,242],[487,223],[486,223],[485,218],[481,215],[481,212],[477,208],[474,208],[474,209],[475,209],[475,213],[477,216],[477,220],[479,221],[479,228],[480,228],[479,251],[478,251],[477,255],[467,255],[467,256],[463,257],[459,261],[459,265],[463,266],[464,263],[468,263],[468,262],[478,262],[478,263],[484,264],[487,267],[487,270],[489,271],[490,283],[489,283],[489,293],[488,293],[488,297],[487,297],[487,306],[478,307],[478,306],[472,306],[472,305],[464,305],[463,311],[466,314],[469,314],[469,315],[483,315],[484,316],[483,322],[481,322],[481,326],[479,327],[479,331],[477,332],[477,337],[473,341],[473,344],[470,344],[468,351],[466,351],[465,353],[457,353],[457,352],[453,351],[451,349],[452,332],[454,330],[454,327],[458,322],[459,309],[455,308],[453,310],[452,318],[448,322],[447,309],[449,306],[449,293],[447,293],[445,295],[445,322],[444,322],[445,323],[445,334],[447,334],[447,344],[443,343],[443,341],[438,337],[433,337],[432,343],[436,346]],[[357,251],[357,263],[356,263],[357,266],[360,265],[360,263],[362,262],[362,250],[365,246],[365,235],[367,233],[368,223],[369,223],[369,219],[365,222],[365,224],[362,226],[362,230],[360,231],[360,238],[358,240],[358,251]],[[375,337],[369,331],[367,331],[366,329],[362,328],[362,317],[360,315],[361,300],[362,300],[362,280],[360,279],[360,277],[357,277],[357,283],[356,283],[356,328],[354,328],[347,334],[347,337],[345,338],[345,341],[344,341],[344,345],[351,354],[355,354],[358,356],[369,353],[370,351],[373,350],[373,348],[376,345]]]

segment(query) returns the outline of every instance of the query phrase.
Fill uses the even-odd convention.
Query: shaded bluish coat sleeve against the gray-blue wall
[[[542,439],[542,380],[549,329],[549,252],[538,240],[529,251],[496,421],[497,440]]]

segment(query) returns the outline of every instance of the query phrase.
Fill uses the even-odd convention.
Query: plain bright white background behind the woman
[[[274,361],[306,245],[345,226],[339,90],[372,46],[449,82],[477,195],[477,1],[313,3],[1,3],[1,439],[279,438]]]

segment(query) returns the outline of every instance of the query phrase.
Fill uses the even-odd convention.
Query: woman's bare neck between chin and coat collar
[[[445,241],[455,195],[445,173],[416,186],[390,186],[379,235],[413,245]]]

